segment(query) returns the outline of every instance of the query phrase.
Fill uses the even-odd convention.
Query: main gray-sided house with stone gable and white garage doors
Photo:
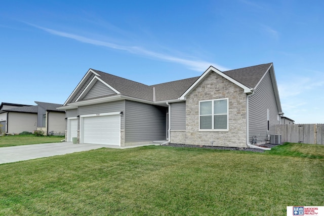
[[[273,64],[147,86],[89,69],[59,110],[66,141],[132,146],[165,140],[248,147],[265,143],[283,115]]]

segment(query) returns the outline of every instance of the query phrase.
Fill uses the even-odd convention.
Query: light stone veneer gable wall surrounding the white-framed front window
[[[199,101],[221,98],[228,98],[228,132],[199,131]],[[246,98],[242,88],[212,72],[187,96],[185,144],[246,148]]]

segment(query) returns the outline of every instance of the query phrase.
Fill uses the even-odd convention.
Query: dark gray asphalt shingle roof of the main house
[[[256,66],[244,67],[239,69],[233,69],[224,71],[223,73],[239,83],[254,88],[259,83],[263,75],[272,63],[260,64]],[[153,88],[155,88],[155,101],[166,101],[179,98],[199,77],[193,77],[183,80],[177,80],[168,83],[161,83],[156,85],[145,85],[125,78],[117,77],[111,74],[104,73],[100,70],[95,70],[95,73],[100,75],[100,79],[106,82],[108,85],[120,92],[121,95],[130,96],[134,98],[153,101]],[[103,96],[101,96],[103,97]],[[49,107],[50,103],[36,102],[43,107]],[[56,110],[53,106],[51,109]],[[51,110],[46,108],[47,110]]]

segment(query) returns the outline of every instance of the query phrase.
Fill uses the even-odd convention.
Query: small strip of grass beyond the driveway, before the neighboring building
[[[35,136],[33,134],[0,136],[0,147],[60,142],[62,139],[64,136]]]

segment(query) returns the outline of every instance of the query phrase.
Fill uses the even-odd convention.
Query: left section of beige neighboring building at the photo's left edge
[[[4,103],[2,103],[3,105]],[[17,134],[23,131],[32,132],[37,128],[37,106],[6,103],[1,107],[0,119],[2,132]],[[12,103],[11,103],[12,104]],[[15,108],[13,108],[15,107]],[[4,121],[3,121],[4,120]]]

